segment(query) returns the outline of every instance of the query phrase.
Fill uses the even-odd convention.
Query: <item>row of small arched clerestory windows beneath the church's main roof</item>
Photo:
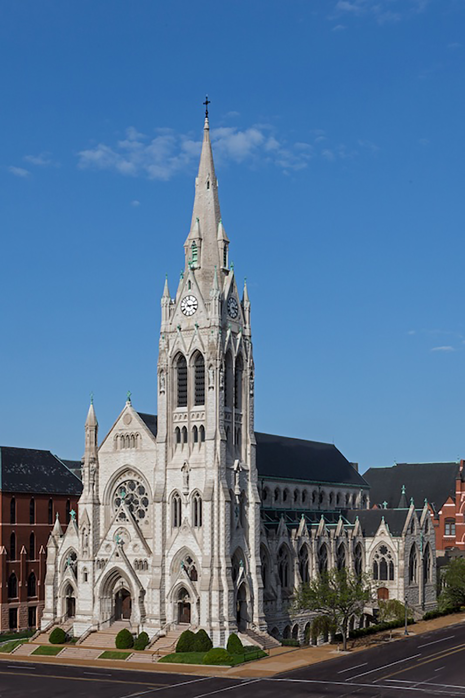
[[[363,491],[343,491],[321,487],[281,487],[265,485],[262,505],[267,508],[289,509],[356,509],[366,508],[367,494]]]

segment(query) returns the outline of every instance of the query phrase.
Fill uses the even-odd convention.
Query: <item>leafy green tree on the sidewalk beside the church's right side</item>
[[[370,579],[348,570],[330,570],[302,584],[295,593],[295,613],[314,611],[325,616],[330,626],[342,635],[343,649],[347,648],[348,624],[352,616],[360,616],[372,600]]]

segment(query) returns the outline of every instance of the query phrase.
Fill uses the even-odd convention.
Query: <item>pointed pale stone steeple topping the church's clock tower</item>
[[[218,181],[213,163],[208,112],[203,127],[202,152],[195,179],[195,198],[191,229],[184,243],[185,270],[195,270],[195,279],[204,298],[212,288],[214,267],[219,270],[219,285],[223,288],[228,265],[229,240],[221,223]]]

